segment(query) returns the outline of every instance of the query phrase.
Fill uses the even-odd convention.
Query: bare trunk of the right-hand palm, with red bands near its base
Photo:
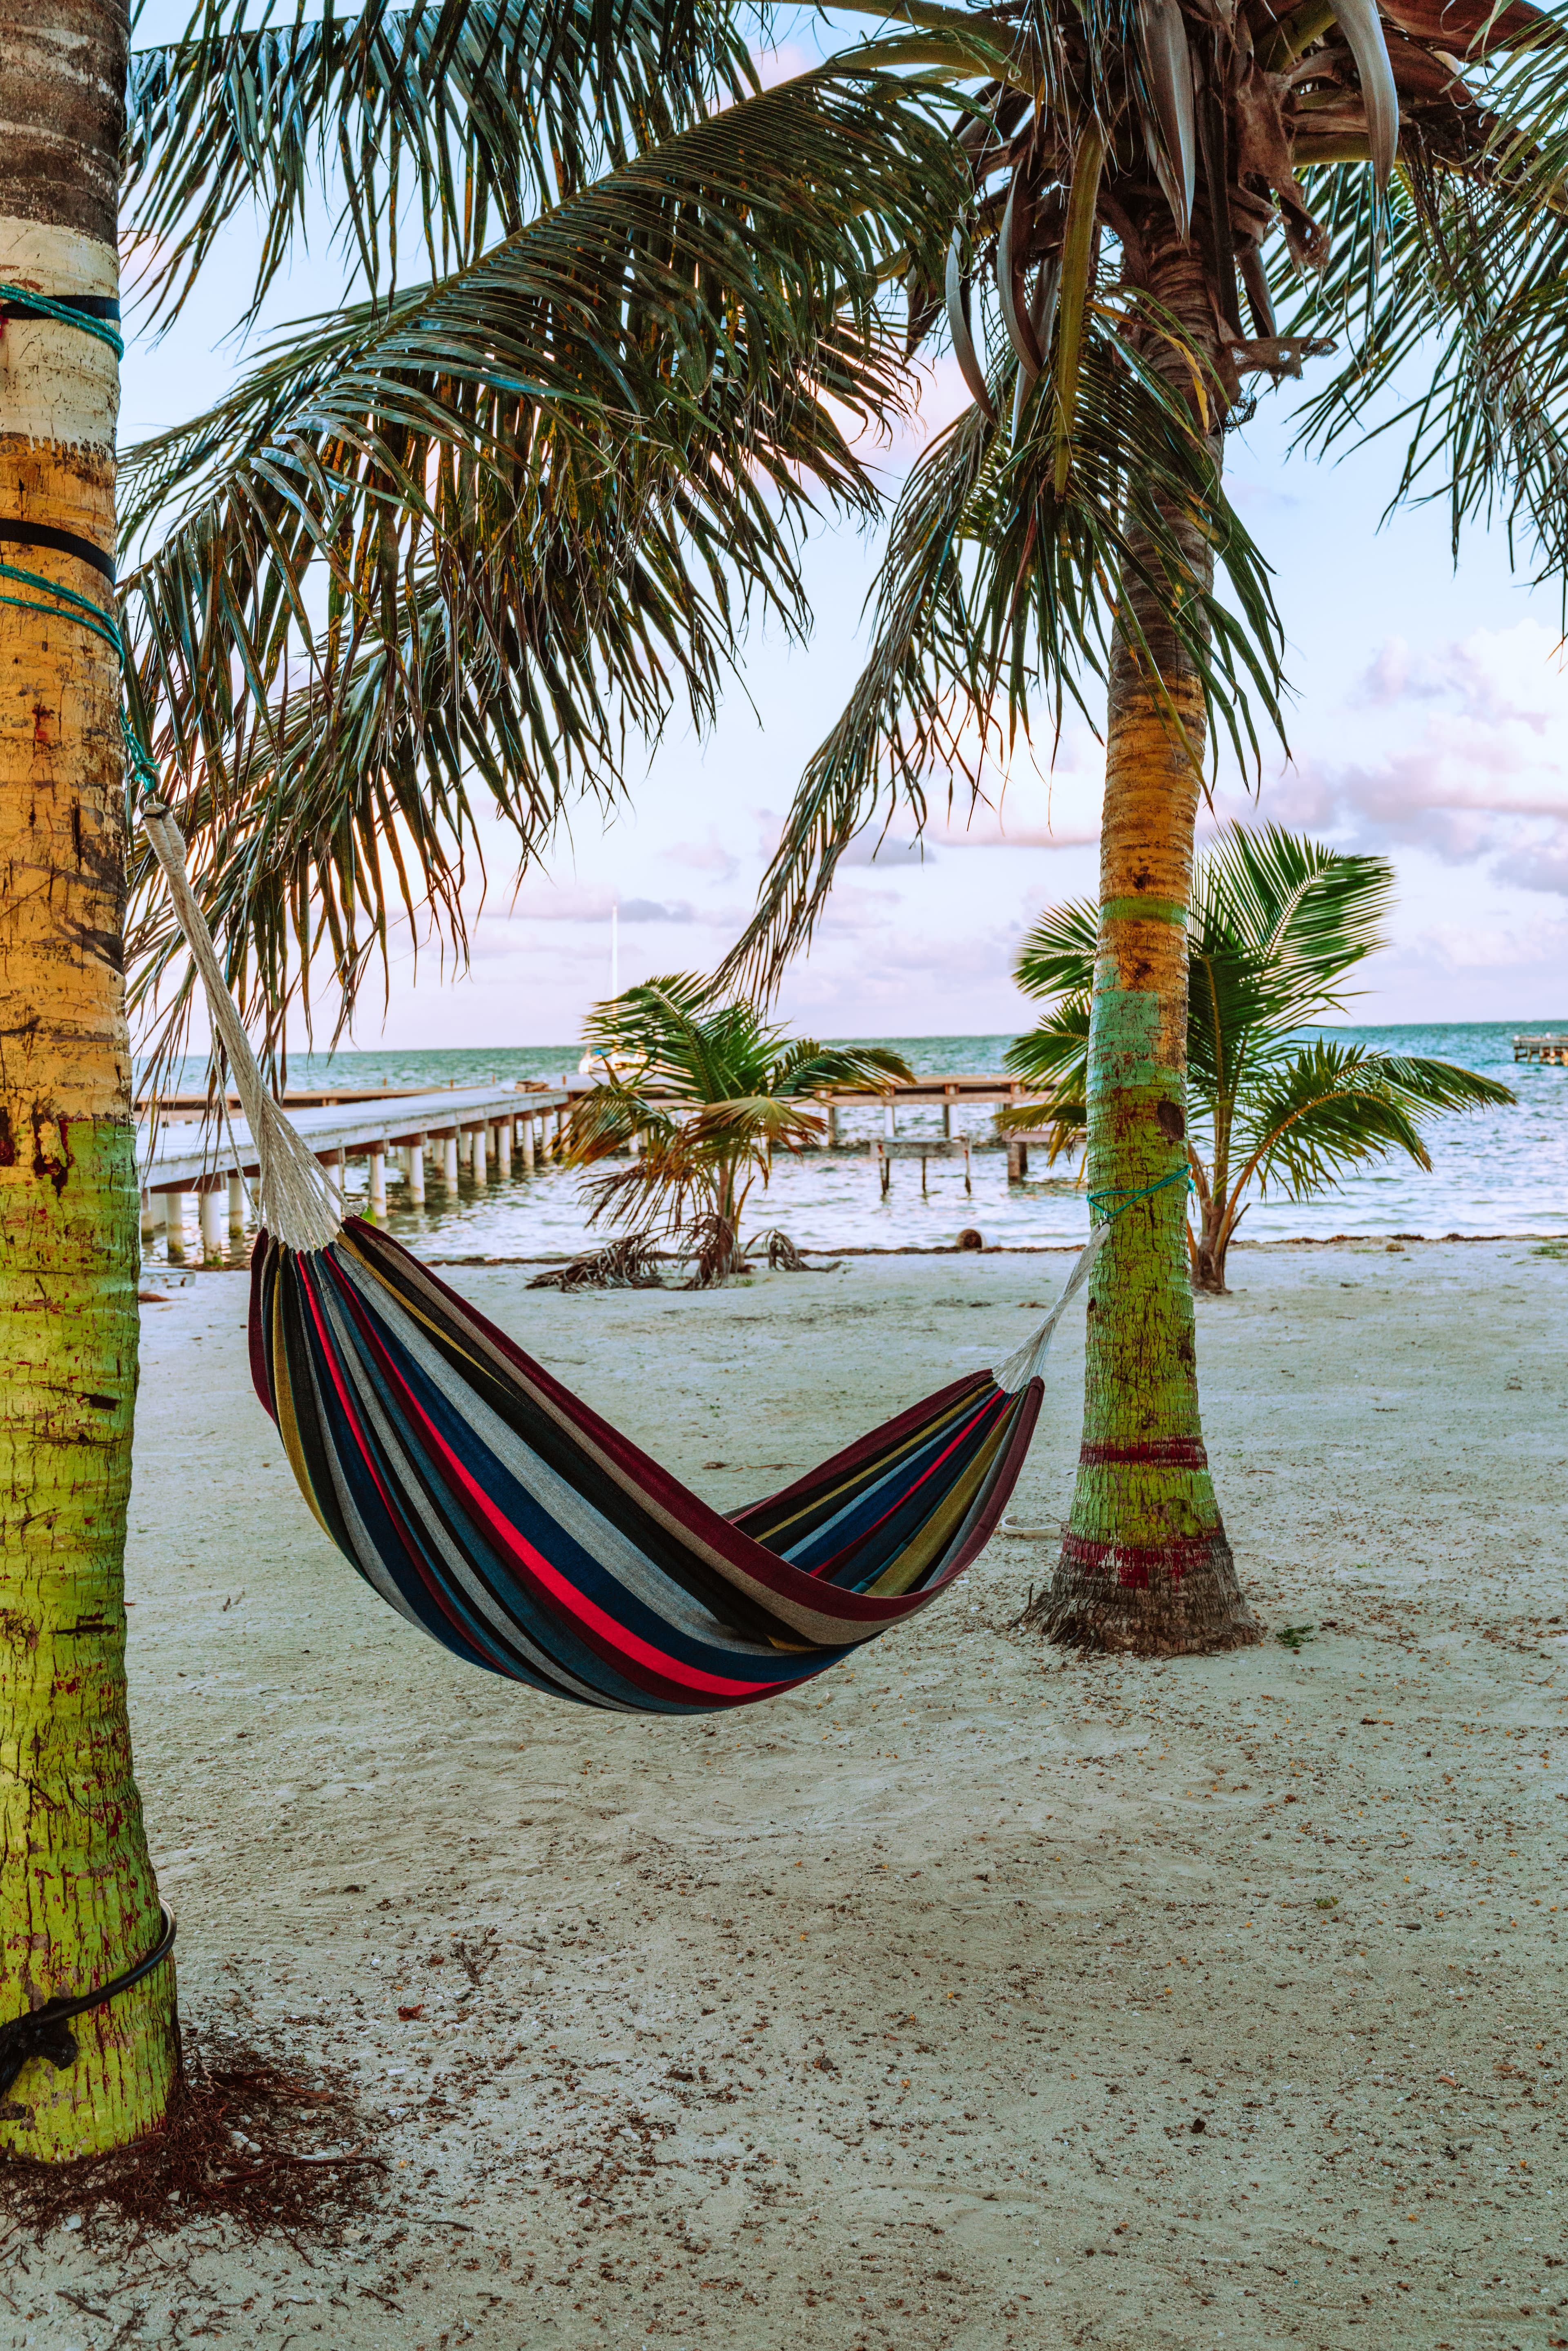
[[[1199,348],[1215,348],[1194,249],[1166,249],[1154,294]],[[1197,534],[1187,552],[1208,578],[1213,557]],[[1204,698],[1164,607],[1150,592],[1133,604],[1159,677],[1119,632],[1088,1025],[1088,1190],[1103,1194],[1114,1232],[1088,1288],[1072,1514],[1051,1589],[1025,1622],[1081,1648],[1178,1655],[1258,1641],[1260,1632],[1237,1585],[1204,1453],[1185,1239],[1185,919]]]

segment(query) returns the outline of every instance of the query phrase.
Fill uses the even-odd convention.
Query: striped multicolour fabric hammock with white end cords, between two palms
[[[985,1549],[1100,1227],[1025,1345],[724,1516],[362,1218],[266,1093],[160,804],[148,839],[261,1164],[252,1378],[324,1533],[468,1665],[581,1704],[708,1714],[799,1688]]]

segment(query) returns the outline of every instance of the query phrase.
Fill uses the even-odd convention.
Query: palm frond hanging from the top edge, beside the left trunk
[[[362,0],[353,14],[296,0],[244,16],[242,0],[202,0],[181,40],[132,56],[122,200],[165,324],[242,212],[263,230],[249,315],[320,200],[341,202],[367,289],[390,294],[409,212],[428,273],[461,268],[755,87],[722,0]]]

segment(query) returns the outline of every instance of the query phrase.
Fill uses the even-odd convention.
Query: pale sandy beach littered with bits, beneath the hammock
[[[999,1361],[1070,1262],[447,1279],[729,1509]],[[1262,1646],[1011,1629],[1074,1317],[1023,1533],[797,1697],[644,1721],[383,1608],[252,1396],[244,1277],[158,1270],[129,1674],[186,2031],[346,2074],[388,2170],[336,2245],[12,2241],[0,2344],[1568,2342],[1568,1262],[1232,1284],[1199,1373]]]

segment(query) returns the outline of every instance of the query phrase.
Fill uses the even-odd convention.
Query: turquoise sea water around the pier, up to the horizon
[[[1352,1234],[1568,1234],[1568,1070],[1514,1065],[1516,1030],[1568,1030],[1568,1018],[1528,1023],[1460,1023],[1446,1027],[1333,1030],[1340,1041],[1363,1039],[1385,1051],[1427,1053],[1465,1063],[1514,1086],[1512,1110],[1441,1119],[1429,1133],[1432,1173],[1408,1159],[1387,1159],[1349,1176],[1333,1192],[1309,1201],[1288,1194],[1255,1199],[1241,1239]],[[994,1072],[1009,1037],[877,1037],[922,1072]],[[477,1051],[371,1051],[299,1056],[289,1063],[292,1086],[449,1086],[489,1079],[555,1079],[576,1070],[578,1046],[520,1046]],[[197,1070],[190,1070],[197,1079]],[[954,1114],[973,1140],[973,1192],[964,1194],[959,1161],[931,1161],[922,1199],[919,1166],[898,1161],[889,1199],[882,1199],[865,1143],[882,1131],[879,1112],[844,1112],[846,1147],[780,1159],[769,1192],[750,1201],[752,1225],[783,1225],[804,1248],[900,1248],[952,1241],[961,1225],[978,1225],[985,1241],[1074,1241],[1088,1230],[1084,1194],[1072,1171],[1046,1173],[1034,1154],[1032,1180],[1009,1185],[1006,1157],[992,1145],[992,1112],[973,1107]],[[898,1121],[900,1136],[938,1133],[940,1112],[912,1110]],[[853,1143],[860,1140],[860,1150]],[[990,1145],[990,1147],[987,1147]],[[350,1168],[350,1192],[362,1183]],[[390,1185],[390,1230],[423,1255],[552,1255],[581,1248],[588,1232],[581,1180],[562,1168],[508,1183],[489,1178],[475,1190],[463,1180],[456,1204],[430,1183],[421,1211],[397,1206]],[[609,1234],[604,1234],[609,1239]]]

